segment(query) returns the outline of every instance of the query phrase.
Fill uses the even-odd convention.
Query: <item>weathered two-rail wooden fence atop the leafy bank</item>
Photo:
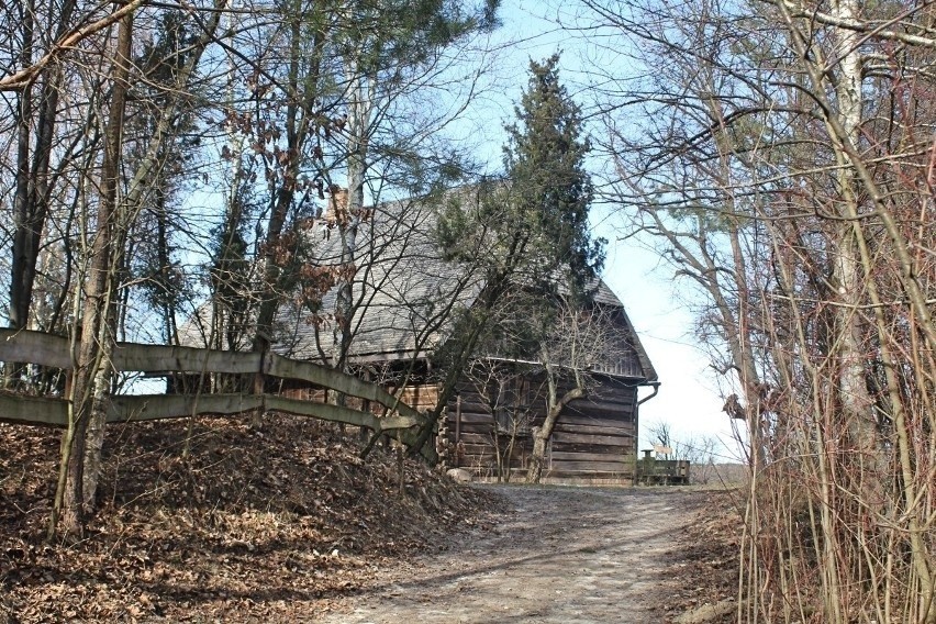
[[[0,361],[35,364],[63,370],[71,370],[74,367],[67,338],[30,331],[0,330]],[[374,432],[405,430],[425,420],[420,412],[376,383],[326,366],[289,359],[274,353],[118,343],[111,363],[114,370],[127,372],[254,374],[261,376],[261,379],[294,379],[382,405],[390,415],[379,417],[369,411],[264,392],[120,394],[111,397],[108,412],[110,423],[180,419],[193,414],[231,415],[252,410],[287,412],[363,426]],[[62,398],[0,394],[0,421],[64,427],[68,425],[68,403],[67,399]]]

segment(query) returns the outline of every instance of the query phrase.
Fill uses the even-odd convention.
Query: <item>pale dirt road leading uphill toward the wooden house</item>
[[[665,622],[673,537],[704,494],[498,487],[514,508],[411,561],[325,624]]]

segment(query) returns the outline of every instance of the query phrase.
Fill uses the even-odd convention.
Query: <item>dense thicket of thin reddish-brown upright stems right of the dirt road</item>
[[[745,621],[936,621],[936,342],[923,294],[936,247],[932,148],[917,145],[879,147],[856,196],[884,199],[856,203],[851,220],[762,220],[775,272],[757,279],[747,310],[765,381],[745,392]],[[802,212],[805,198],[834,205],[822,193],[783,210]]]

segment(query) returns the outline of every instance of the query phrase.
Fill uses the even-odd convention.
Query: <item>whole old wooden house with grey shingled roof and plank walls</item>
[[[459,192],[471,201],[470,191]],[[379,204],[363,220],[354,255],[348,361],[360,376],[397,390],[420,410],[437,405],[437,355],[455,331],[453,312],[470,309],[484,288],[481,275],[444,259],[435,242],[437,214],[438,207],[424,200]],[[319,270],[343,266],[334,222],[326,214],[308,234]],[[299,294],[281,305],[271,348],[292,358],[327,360],[335,343],[336,289],[310,300],[301,296],[303,288],[298,285]],[[602,342],[592,347],[586,398],[561,411],[547,449],[546,480],[632,480],[638,391],[645,388],[643,394],[653,395],[659,386],[623,303],[601,280],[592,305],[600,312]],[[554,370],[568,369],[567,361],[556,364]],[[562,375],[558,380],[561,395],[569,380]],[[321,390],[301,385],[279,390],[293,398],[324,398]],[[436,448],[447,466],[482,478],[523,471],[533,428],[546,414],[545,368],[497,353],[480,356],[444,409]]]

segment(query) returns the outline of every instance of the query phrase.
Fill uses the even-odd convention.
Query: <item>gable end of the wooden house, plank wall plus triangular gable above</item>
[[[597,287],[593,305],[602,313],[593,315],[592,322],[601,325],[602,335],[592,346],[594,359],[584,374],[584,398],[562,408],[549,438],[543,471],[547,482],[631,482],[638,406],[659,386],[623,304],[604,282]],[[575,365],[557,364],[561,397],[573,387],[571,374],[562,375],[561,369]],[[548,410],[546,387],[541,361],[477,358],[447,404],[442,430],[450,442],[447,460],[488,479],[525,472],[533,432],[543,425]],[[653,391],[645,390],[640,399],[643,387]]]

